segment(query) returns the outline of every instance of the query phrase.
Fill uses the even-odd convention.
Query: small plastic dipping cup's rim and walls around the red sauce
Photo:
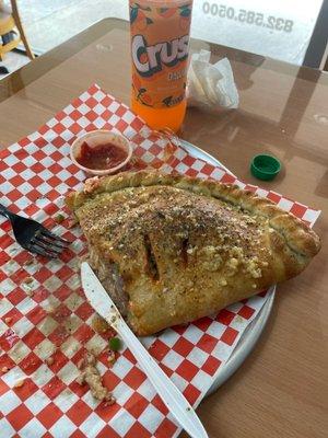
[[[95,148],[99,145],[106,145],[106,143],[116,145],[119,148],[127,151],[127,158],[121,163],[117,164],[115,168],[102,169],[102,170],[84,168],[77,161],[77,158],[81,154],[81,146],[84,141],[86,141],[90,148]],[[119,169],[125,166],[130,161],[132,157],[132,151],[133,151],[132,145],[126,137],[121,136],[120,134],[115,134],[110,130],[98,129],[98,130],[91,130],[78,137],[71,146],[70,157],[72,162],[86,173],[91,173],[93,175],[108,175],[110,173],[117,172]]]

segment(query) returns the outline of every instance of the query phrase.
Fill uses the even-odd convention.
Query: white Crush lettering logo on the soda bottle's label
[[[163,69],[163,66],[174,67],[188,57],[189,35],[184,35],[171,42],[148,46],[144,36],[132,38],[132,59],[139,74],[151,77]]]

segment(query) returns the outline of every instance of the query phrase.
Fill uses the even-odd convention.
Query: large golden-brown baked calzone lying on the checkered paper
[[[138,335],[218,312],[300,274],[319,238],[236,186],[125,172],[71,193],[99,280]]]

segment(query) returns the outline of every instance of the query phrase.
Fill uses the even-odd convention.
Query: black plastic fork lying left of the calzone
[[[11,221],[16,242],[31,253],[55,258],[70,244],[69,241],[54,234],[36,220],[15,215],[1,204],[0,215]]]

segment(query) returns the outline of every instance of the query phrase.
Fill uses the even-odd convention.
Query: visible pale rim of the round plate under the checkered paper
[[[186,151],[188,151],[190,155],[204,160],[213,165],[220,165],[221,168],[225,169],[226,172],[233,175],[233,173],[224,164],[222,164],[214,157],[210,155],[208,152],[201,150],[195,145],[189,143],[186,140],[180,139],[180,142],[184,149],[186,149]],[[221,384],[223,384],[241,367],[246,357],[250,354],[260,334],[262,333],[262,331],[267,325],[269,315],[272,310],[274,295],[276,295],[276,286],[272,286],[270,288],[270,293],[266,303],[263,304],[262,309],[260,310],[256,319],[251,321],[251,323],[245,330],[236,348],[234,349],[234,353],[226,361],[226,364],[224,364],[222,367],[218,369],[218,372],[214,376],[214,383],[209,389],[207,395],[210,395],[219,387],[221,387]]]

